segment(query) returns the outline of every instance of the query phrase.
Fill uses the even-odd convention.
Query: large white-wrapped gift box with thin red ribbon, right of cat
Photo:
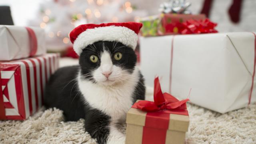
[[[256,36],[252,32],[140,37],[146,84],[225,113],[256,102]]]

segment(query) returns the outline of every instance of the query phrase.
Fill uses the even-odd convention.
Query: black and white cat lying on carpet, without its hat
[[[82,50],[79,66],[60,68],[51,76],[44,104],[63,110],[66,121],[84,118],[85,130],[99,144],[124,144],[117,125],[144,98],[134,50],[121,42],[98,41]]]

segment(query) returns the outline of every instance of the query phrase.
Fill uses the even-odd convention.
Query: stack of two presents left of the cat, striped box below
[[[42,106],[60,56],[46,54],[41,28],[0,25],[0,44],[0,120],[25,120]]]

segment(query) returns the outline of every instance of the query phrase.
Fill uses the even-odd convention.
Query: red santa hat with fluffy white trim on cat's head
[[[134,50],[141,27],[137,22],[82,24],[70,32],[70,41],[78,55],[86,46],[98,41],[117,41]]]

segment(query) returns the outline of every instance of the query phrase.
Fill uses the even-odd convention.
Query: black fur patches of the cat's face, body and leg
[[[100,60],[96,63],[90,62],[92,54],[99,56],[103,51],[102,45],[108,48],[111,54],[115,52],[122,53],[122,59],[119,61],[112,60],[114,65],[122,67],[122,69],[133,72],[136,65],[136,54],[132,48],[125,46],[120,42],[95,42],[84,48],[80,54],[80,66],[68,66],[58,69],[50,78],[46,86],[46,95],[44,96],[44,104],[47,108],[59,108],[63,110],[66,121],[76,121],[80,118],[85,119],[85,130],[90,133],[92,138],[96,138],[99,144],[106,143],[110,132],[108,124],[110,116],[104,114],[101,110],[91,107],[86,102],[84,96],[80,92],[77,83],[78,71],[82,74],[88,74],[95,68],[100,66]],[[114,47],[114,45],[116,46]],[[87,76],[84,80],[93,80],[92,76]],[[139,82],[133,92],[133,102],[137,99],[144,100],[145,87],[144,79],[140,74]],[[85,96],[86,97],[86,96]],[[100,129],[99,129],[100,128]]]

